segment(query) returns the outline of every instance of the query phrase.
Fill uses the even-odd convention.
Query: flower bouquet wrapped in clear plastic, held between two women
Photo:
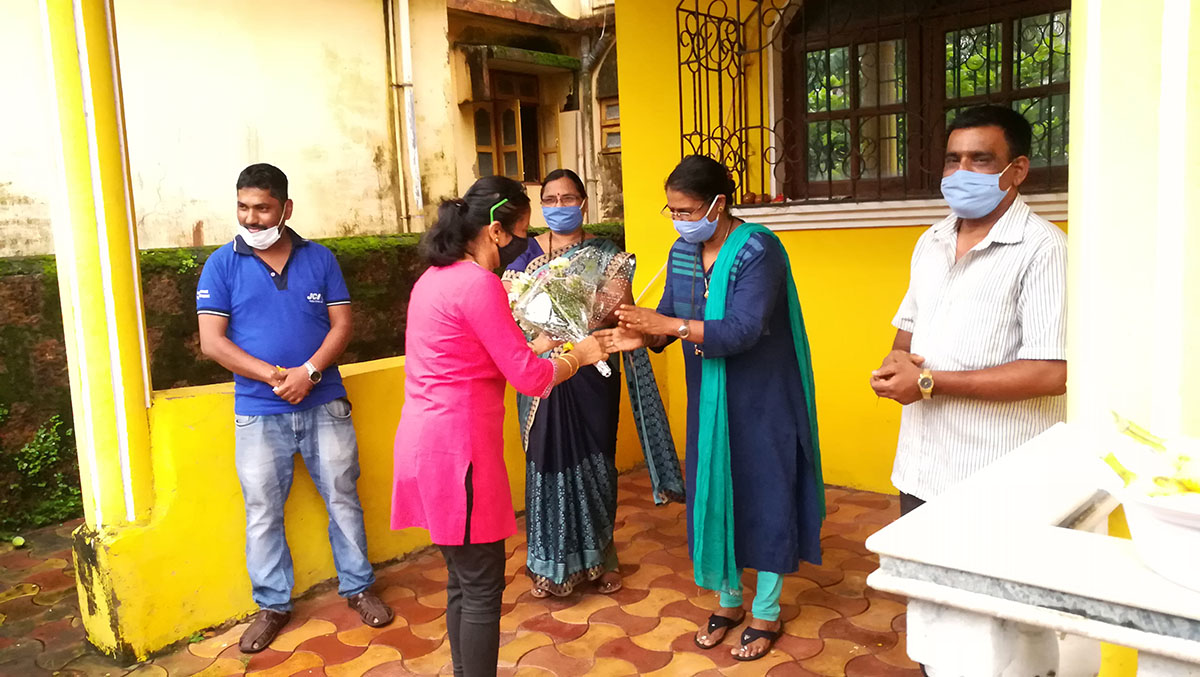
[[[526,331],[541,331],[556,341],[582,341],[612,313],[629,290],[631,254],[612,256],[587,248],[558,257],[536,275],[510,276],[512,316]],[[607,363],[596,363],[607,376]]]

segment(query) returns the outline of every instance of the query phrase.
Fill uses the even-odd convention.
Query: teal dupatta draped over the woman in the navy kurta
[[[809,338],[804,331],[804,317],[792,278],[792,266],[779,238],[763,226],[744,223],[730,234],[713,265],[712,282],[704,320],[725,318],[725,305],[730,287],[734,281],[733,262],[751,235],[762,233],[779,246],[784,254],[787,278],[787,312],[796,343],[796,361],[799,364],[804,385],[804,405],[809,415],[811,454],[815,486],[805,487],[820,496],[821,516],[824,517],[824,486],[821,477],[821,447],[817,436],[817,411],[814,395],[812,359]],[[742,570],[733,552],[733,478],[730,469],[730,411],[726,389],[724,358],[704,358],[700,387],[700,425],[696,439],[696,497],[692,503],[692,563],[696,585],[724,592],[740,592]]]

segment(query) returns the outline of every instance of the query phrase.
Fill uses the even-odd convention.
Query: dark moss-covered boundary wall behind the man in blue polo
[[[589,230],[624,246],[620,223]],[[318,240],[337,257],[353,299],[354,338],[342,360],[404,352],[413,283],[424,270],[416,235]],[[196,284],[216,247],[142,252],[142,293],[155,389],[229,381],[200,354]],[[54,257],[0,258],[0,537],[71,516],[78,468]],[[54,425],[54,417],[61,426]],[[73,483],[73,484],[72,484]],[[77,493],[77,491],[76,491]],[[54,505],[42,505],[44,497]]]

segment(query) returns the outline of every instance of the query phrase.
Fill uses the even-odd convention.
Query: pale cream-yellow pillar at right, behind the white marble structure
[[[1200,10],[1072,5],[1069,412],[1200,435]],[[1114,533],[1128,535],[1115,515]],[[1105,647],[1103,677],[1136,653]]]

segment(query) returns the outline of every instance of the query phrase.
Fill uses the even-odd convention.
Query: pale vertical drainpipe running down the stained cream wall
[[[410,187],[403,199],[404,230],[425,230],[425,198],[421,197],[421,161],[416,152],[416,100],[413,95],[413,34],[409,23],[408,0],[385,0],[384,13],[388,22],[388,70],[391,80],[392,107],[398,114],[396,122],[396,151],[408,161],[401,161],[401,175]],[[398,44],[397,44],[398,43]],[[397,49],[398,47],[398,49]],[[397,54],[398,52],[398,54]],[[398,94],[397,94],[398,92]],[[398,100],[398,101],[397,101]]]

